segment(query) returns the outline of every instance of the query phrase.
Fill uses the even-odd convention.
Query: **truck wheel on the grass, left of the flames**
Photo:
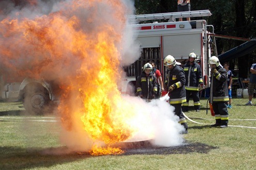
[[[43,92],[30,93],[24,95],[23,106],[30,114],[41,115],[49,101],[49,95]]]

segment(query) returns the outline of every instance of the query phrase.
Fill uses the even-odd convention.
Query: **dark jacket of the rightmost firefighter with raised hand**
[[[211,73],[210,103],[223,103],[229,101],[228,74],[226,69],[220,65],[216,67],[217,72]]]

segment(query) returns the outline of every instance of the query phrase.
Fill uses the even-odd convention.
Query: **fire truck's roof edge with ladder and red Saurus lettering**
[[[175,22],[176,18],[198,18],[203,16],[211,16],[210,10],[197,10],[197,11],[184,11],[184,12],[168,12],[168,13],[154,13],[154,14],[139,14],[130,15],[129,22],[133,27],[135,32],[140,32],[141,36],[148,35],[148,33],[157,34],[159,31],[172,30],[172,33],[177,31],[185,31],[189,29],[199,28],[200,30],[206,30],[205,20],[193,20],[193,21],[183,21]],[[167,22],[166,22],[167,20]],[[144,32],[144,33],[142,33]],[[147,33],[148,32],[148,33]],[[206,33],[206,32],[205,32]],[[206,36],[206,35],[205,35]]]

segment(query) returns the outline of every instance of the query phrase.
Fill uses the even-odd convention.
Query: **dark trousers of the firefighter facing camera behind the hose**
[[[195,90],[186,90],[186,100],[187,101],[186,101],[186,103],[183,103],[182,110],[185,112],[188,111],[188,102],[189,102],[190,94],[193,97],[195,110],[200,110],[199,91],[195,91]]]

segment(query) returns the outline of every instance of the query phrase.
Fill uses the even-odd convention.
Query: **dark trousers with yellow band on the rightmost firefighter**
[[[215,113],[216,124],[228,125],[229,113],[226,103],[213,103],[213,110]]]

